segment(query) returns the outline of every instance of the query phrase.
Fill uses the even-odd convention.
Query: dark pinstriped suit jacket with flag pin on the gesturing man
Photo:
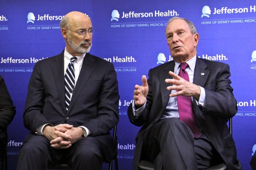
[[[130,122],[142,126],[136,136],[134,169],[137,169],[141,155],[143,132],[161,118],[168,104],[170,91],[166,87],[170,84],[164,80],[172,78],[168,72],[174,71],[174,66],[175,62],[169,61],[149,70],[149,93],[146,107],[140,117],[133,119],[132,106],[128,108]],[[241,165],[236,158],[235,142],[227,126],[227,120],[236,114],[237,102],[229,76],[228,64],[197,57],[193,83],[205,89],[207,107],[198,106],[193,99],[193,108],[198,126],[220,153],[228,169],[236,170],[241,169]]]

